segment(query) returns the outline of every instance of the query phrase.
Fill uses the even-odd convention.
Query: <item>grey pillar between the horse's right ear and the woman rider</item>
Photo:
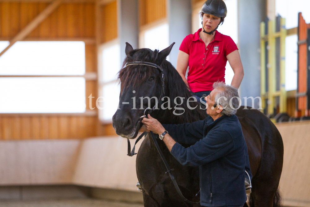
[[[190,0],[167,0],[169,22],[169,44],[175,42],[170,52],[170,62],[176,67],[179,47],[183,39],[192,32],[192,8]]]

